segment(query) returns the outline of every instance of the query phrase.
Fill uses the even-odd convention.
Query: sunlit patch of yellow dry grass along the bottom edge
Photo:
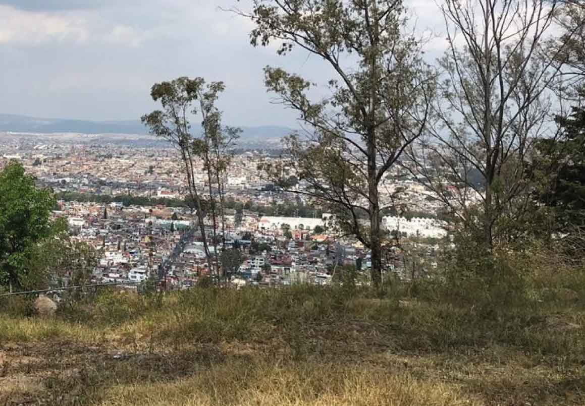
[[[459,388],[380,367],[230,363],[188,379],[113,387],[103,405],[479,405]]]

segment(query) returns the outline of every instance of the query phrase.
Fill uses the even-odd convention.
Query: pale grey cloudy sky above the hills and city
[[[228,124],[294,126],[292,112],[270,103],[262,68],[329,72],[300,50],[278,57],[250,46],[250,23],[220,9],[236,4],[246,8],[246,0],[0,0],[0,113],[137,119],[154,107],[154,82],[185,75],[225,82]],[[434,0],[405,4],[419,29],[441,30]]]

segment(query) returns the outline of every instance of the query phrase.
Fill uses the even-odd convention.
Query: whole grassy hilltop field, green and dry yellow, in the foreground
[[[109,292],[51,319],[3,301],[0,405],[585,404],[582,290],[411,288]]]

